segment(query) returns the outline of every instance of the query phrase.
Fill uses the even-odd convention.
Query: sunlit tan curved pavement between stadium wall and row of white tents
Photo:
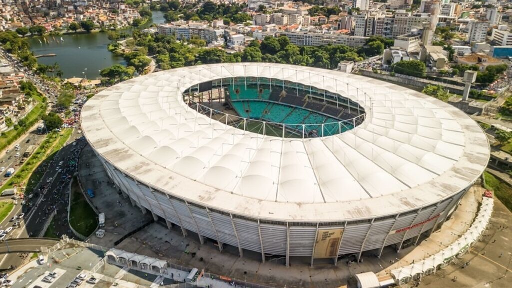
[[[432,234],[429,239],[421,242],[408,255],[400,255],[401,253],[398,253],[397,258],[400,261],[382,270],[377,275],[384,276],[389,274],[391,270],[410,265],[413,262],[419,262],[457,241],[471,227],[482,201],[484,191],[484,188],[475,184],[462,198],[459,208],[454,212],[452,219],[446,221],[442,229]]]

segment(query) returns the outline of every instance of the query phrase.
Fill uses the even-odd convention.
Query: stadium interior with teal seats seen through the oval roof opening
[[[223,78],[184,93],[188,105],[244,131],[286,138],[327,137],[364,121],[365,110],[338,94],[290,81]]]

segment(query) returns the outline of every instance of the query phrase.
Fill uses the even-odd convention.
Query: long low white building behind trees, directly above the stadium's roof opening
[[[348,36],[339,33],[316,32],[278,32],[276,36],[286,36],[297,46],[345,45],[349,47],[364,46],[368,37]]]

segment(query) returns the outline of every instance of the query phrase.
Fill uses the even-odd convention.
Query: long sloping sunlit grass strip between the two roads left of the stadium
[[[55,152],[62,149],[63,145],[66,143],[66,141],[68,141],[72,133],[73,129],[66,129],[63,130],[60,134],[48,134],[46,139],[42,141],[41,145],[34,152],[34,154],[23,164],[23,166],[20,169],[18,169],[18,171],[16,171],[14,176],[12,176],[11,179],[9,179],[9,181],[7,181],[7,183],[2,188],[0,188],[0,192],[6,189],[13,188],[16,184],[25,183],[27,180],[29,180],[28,182],[32,184],[31,189],[33,189],[32,186],[36,186],[37,183],[41,180],[42,176],[44,175],[44,171],[42,171],[42,169],[37,169],[38,173],[35,173],[37,174],[37,177],[32,177],[32,173],[34,172],[34,170],[43,161],[45,161],[49,157],[53,157]],[[28,193],[29,192],[27,192],[26,190],[25,194]]]

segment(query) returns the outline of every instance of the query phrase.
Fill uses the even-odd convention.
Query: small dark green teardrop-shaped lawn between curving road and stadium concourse
[[[82,236],[89,237],[98,227],[97,215],[83,196],[78,179],[71,186],[71,211],[69,224]]]

